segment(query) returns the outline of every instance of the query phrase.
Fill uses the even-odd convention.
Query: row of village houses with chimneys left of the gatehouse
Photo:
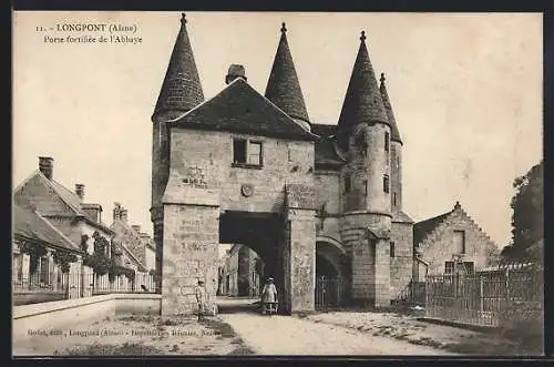
[[[14,305],[111,292],[154,292],[155,243],[115,203],[113,221],[86,203],[85,186],[54,180],[52,157],[13,193]]]

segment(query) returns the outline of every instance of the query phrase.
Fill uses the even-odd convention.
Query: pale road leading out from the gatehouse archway
[[[248,308],[248,303],[253,302],[228,298],[219,302],[219,316],[257,355],[452,356],[443,350],[340,326],[293,316],[263,316]]]

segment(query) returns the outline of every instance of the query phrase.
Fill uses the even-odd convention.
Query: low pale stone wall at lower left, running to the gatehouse
[[[111,294],[13,307],[13,340],[33,332],[68,329],[89,319],[101,320],[116,314],[160,315],[158,294]]]

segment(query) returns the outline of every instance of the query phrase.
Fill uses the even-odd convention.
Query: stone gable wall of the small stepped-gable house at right
[[[476,271],[496,264],[497,246],[463,210],[458,208],[418,246],[422,258],[429,263],[429,274],[442,274],[444,263],[452,261],[456,252],[453,241],[456,230],[465,232],[464,262],[473,262]]]

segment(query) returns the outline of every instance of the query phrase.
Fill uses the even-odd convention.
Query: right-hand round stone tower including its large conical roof
[[[338,122],[342,169],[341,237],[351,256],[352,302],[390,304],[391,126],[361,33]]]

